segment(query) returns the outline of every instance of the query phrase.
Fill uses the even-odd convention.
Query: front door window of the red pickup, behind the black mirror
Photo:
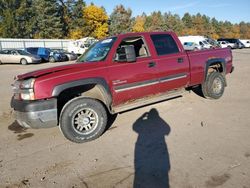
[[[147,45],[145,44],[143,37],[141,36],[129,37],[129,38],[123,39],[122,42],[119,44],[119,47],[116,50],[116,55],[123,53],[120,50],[122,46],[130,46],[130,45],[134,46],[135,54],[137,58],[149,56]]]

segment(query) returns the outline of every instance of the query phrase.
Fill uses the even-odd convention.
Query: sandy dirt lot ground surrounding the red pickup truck
[[[233,55],[221,99],[187,93],[129,111],[85,144],[11,117],[14,75],[54,64],[1,65],[0,187],[250,188],[250,49]]]

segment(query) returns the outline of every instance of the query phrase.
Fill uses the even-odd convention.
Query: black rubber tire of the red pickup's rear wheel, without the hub
[[[214,93],[213,92],[213,82],[215,79],[219,78],[221,83],[222,83],[222,88],[220,90],[220,92]],[[205,95],[211,99],[219,99],[220,97],[222,97],[224,90],[225,90],[225,78],[224,76],[219,73],[219,72],[212,72],[208,75],[207,77],[207,81],[205,83],[204,87],[204,91],[205,91]]]

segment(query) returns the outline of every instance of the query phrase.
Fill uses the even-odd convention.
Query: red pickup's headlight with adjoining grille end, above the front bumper
[[[15,83],[12,85],[14,98],[19,100],[35,100],[34,83],[34,78],[15,81]]]

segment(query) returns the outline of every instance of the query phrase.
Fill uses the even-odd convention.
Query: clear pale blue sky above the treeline
[[[131,8],[133,16],[143,12],[150,14],[153,11],[172,12],[183,16],[185,12],[190,14],[206,14],[221,21],[250,22],[250,0],[86,0],[87,4],[93,2],[95,5],[104,6],[110,14],[114,7],[123,4]]]

